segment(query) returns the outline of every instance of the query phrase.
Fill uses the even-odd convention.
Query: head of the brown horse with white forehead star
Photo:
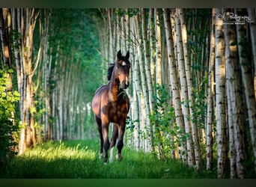
[[[119,88],[127,89],[129,86],[129,51],[127,55],[122,56],[121,50],[118,51],[118,60],[115,62],[115,79],[119,83]]]

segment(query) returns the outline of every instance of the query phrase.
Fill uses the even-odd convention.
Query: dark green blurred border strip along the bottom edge
[[[1,186],[4,187],[105,187],[105,186],[122,186],[122,187],[165,187],[165,186],[182,186],[182,187],[253,187],[255,180],[0,180]]]

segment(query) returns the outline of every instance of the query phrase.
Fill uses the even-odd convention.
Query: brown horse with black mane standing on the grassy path
[[[122,159],[121,151],[124,147],[124,130],[129,112],[129,98],[124,91],[129,86],[129,51],[126,56],[122,56],[121,51],[118,51],[117,57],[118,60],[108,70],[109,84],[98,88],[92,100],[94,117],[100,132],[100,155],[103,156],[104,148],[105,162],[108,162],[109,156],[109,123],[111,122],[113,123],[113,133],[109,160],[113,160],[117,138],[117,159]]]

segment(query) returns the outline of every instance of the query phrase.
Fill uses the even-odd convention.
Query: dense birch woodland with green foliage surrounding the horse
[[[91,99],[130,52],[125,146],[256,174],[255,9],[0,10],[0,159],[98,138]]]

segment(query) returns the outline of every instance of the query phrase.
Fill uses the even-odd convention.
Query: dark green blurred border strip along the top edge
[[[1,0],[0,7],[256,7],[254,0]]]

